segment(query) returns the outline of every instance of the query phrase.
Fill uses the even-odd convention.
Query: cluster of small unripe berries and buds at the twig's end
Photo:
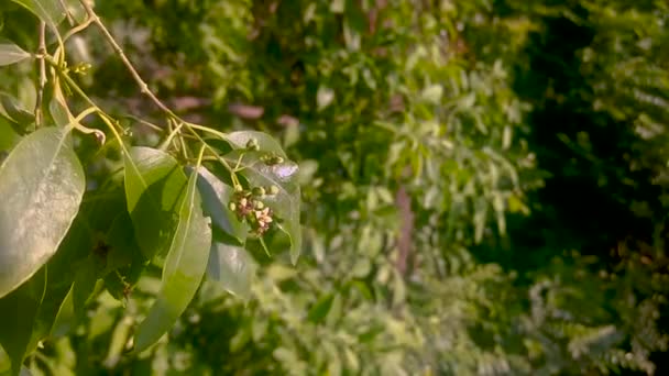
[[[243,189],[241,186],[237,186],[228,208],[237,214],[240,221],[248,222],[255,234],[262,235],[270,230],[273,222],[273,212],[265,207],[262,199],[276,193],[278,193],[278,187],[276,186],[253,187],[252,189]]]

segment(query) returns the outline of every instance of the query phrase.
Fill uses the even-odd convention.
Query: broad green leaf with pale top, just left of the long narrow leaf
[[[133,147],[124,156],[125,198],[138,243],[147,259],[169,250],[186,175],[168,154]]]

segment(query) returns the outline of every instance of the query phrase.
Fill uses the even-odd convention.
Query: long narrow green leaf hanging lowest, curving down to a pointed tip
[[[165,259],[161,291],[136,331],[138,353],[172,328],[195,296],[207,268],[211,228],[196,188],[198,176],[197,170],[190,175],[186,192],[179,200],[178,225]]]

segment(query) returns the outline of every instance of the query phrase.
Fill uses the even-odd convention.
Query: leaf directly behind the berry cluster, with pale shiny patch
[[[243,153],[240,159],[240,153]],[[268,165],[263,162],[265,153],[233,151],[226,155],[226,159],[234,165],[241,161],[243,167],[241,174],[249,180],[251,186],[276,186],[278,192],[263,198],[263,202],[272,209],[281,221],[276,226],[290,237],[290,261],[297,262],[301,251],[301,228],[299,225],[299,203],[301,200],[297,164],[284,161],[278,164]]]

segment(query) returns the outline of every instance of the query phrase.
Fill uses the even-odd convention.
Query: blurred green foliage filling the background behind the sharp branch
[[[127,342],[160,276],[127,300],[100,295],[29,360],[35,375],[668,371],[663,1],[96,10],[184,118],[282,140],[299,162],[304,257],[253,253],[248,298],[205,281],[139,355]],[[34,51],[28,12],[0,14],[1,33]],[[90,92],[120,117],[156,115],[102,44],[73,41]],[[0,70],[26,108],[34,79],[30,66]],[[0,119],[0,148],[14,136]]]

